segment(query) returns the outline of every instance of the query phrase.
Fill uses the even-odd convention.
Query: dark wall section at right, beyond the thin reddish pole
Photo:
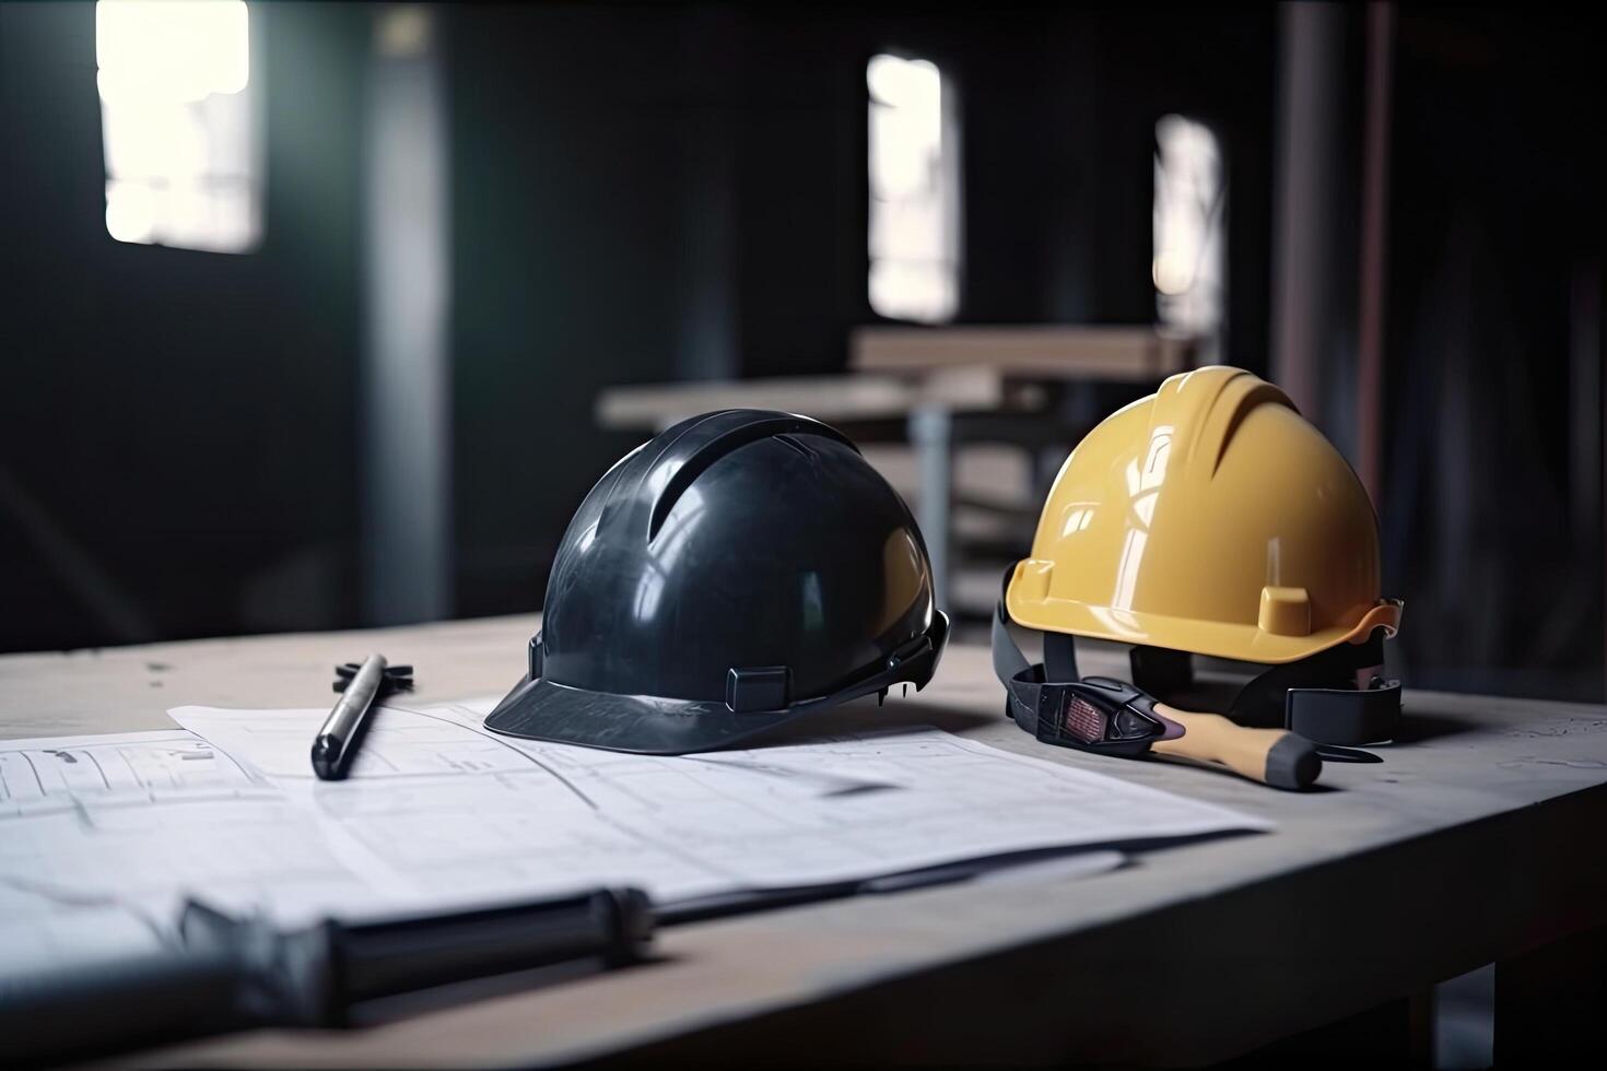
[[[1380,511],[1425,684],[1602,694],[1599,43],[1401,13]]]

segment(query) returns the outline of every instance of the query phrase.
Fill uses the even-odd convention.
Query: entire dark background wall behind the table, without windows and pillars
[[[1226,353],[1270,369],[1271,8],[439,16],[461,615],[540,605],[570,512],[635,442],[595,427],[601,387],[844,368],[874,321],[881,50],[937,61],[959,100],[963,321],[1151,321],[1154,124],[1183,112],[1228,159]],[[358,623],[374,8],[252,19],[265,244],[231,257],[108,238],[93,6],[0,3],[0,649]],[[1578,403],[1601,360],[1580,342],[1601,294],[1594,39],[1565,14],[1446,8],[1398,31],[1380,514],[1400,650],[1416,681],[1599,698],[1599,374]],[[1358,101],[1332,117],[1347,239]],[[1345,443],[1348,368],[1327,379],[1316,416]]]

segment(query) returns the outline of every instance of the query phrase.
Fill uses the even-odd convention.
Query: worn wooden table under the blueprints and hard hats
[[[331,663],[370,649],[415,663],[424,700],[501,692],[521,674],[535,625],[10,655],[0,658],[0,732],[170,727],[162,711],[180,703],[321,703]],[[1086,662],[1118,670],[1098,652]],[[1414,742],[1377,748],[1382,764],[1331,764],[1324,792],[1287,795],[1159,761],[1041,748],[1003,719],[1000,697],[987,650],[956,645],[919,697],[844,708],[815,727],[937,724],[1266,814],[1279,829],[1144,851],[1083,880],[1022,877],[677,926],[644,967],[381,1028],[262,1031],[133,1061],[1199,1063],[1482,963],[1533,963],[1551,954],[1536,952],[1543,946],[1607,922],[1602,707],[1408,692]],[[1498,1052],[1503,1037],[1512,1052],[1525,1023],[1556,1036],[1544,1008],[1557,1004],[1523,1007],[1535,1008],[1527,1020],[1498,1026]]]

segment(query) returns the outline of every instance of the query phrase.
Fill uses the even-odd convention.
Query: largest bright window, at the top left
[[[262,238],[241,0],[95,5],[106,231],[122,242],[246,252]]]

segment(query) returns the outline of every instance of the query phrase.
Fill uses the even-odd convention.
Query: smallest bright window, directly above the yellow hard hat
[[[1215,361],[1228,300],[1228,181],[1210,127],[1183,116],[1155,124],[1155,312]]]

